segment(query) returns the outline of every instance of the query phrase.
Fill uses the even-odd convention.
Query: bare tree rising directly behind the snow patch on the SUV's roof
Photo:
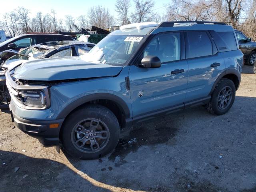
[[[136,23],[152,21],[155,13],[153,12],[154,2],[151,0],[134,0],[135,12],[132,13],[132,21]]]

